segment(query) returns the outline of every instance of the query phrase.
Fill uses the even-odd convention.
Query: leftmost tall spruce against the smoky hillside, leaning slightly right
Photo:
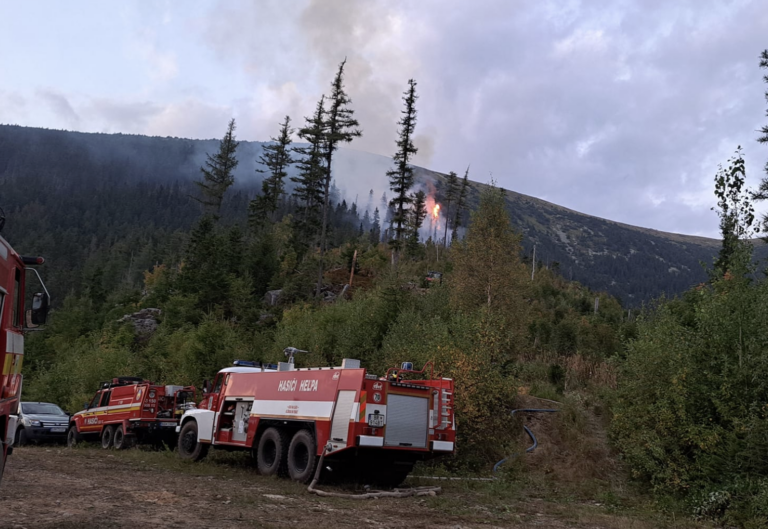
[[[239,142],[235,140],[235,120],[232,119],[227,126],[227,132],[219,142],[219,152],[208,154],[205,164],[200,168],[203,179],[195,181],[200,188],[202,197],[192,197],[200,202],[206,214],[210,214],[214,220],[219,219],[221,203],[224,193],[235,183],[234,170],[237,167],[235,151]]]

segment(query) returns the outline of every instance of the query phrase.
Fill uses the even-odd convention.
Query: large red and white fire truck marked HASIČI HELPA
[[[396,486],[417,460],[453,453],[453,381],[435,378],[431,364],[379,377],[350,359],[298,369],[295,352],[288,348],[289,361],[278,365],[235,361],[219,371],[181,418],[179,456],[199,460],[210,446],[250,450],[261,474],[306,483],[325,452],[333,473]]]

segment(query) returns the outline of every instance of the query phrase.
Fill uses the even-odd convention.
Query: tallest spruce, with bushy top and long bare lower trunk
[[[344,59],[339,65],[336,77],[331,83],[331,95],[328,110],[325,112],[324,147],[325,147],[325,174],[323,180],[323,222],[320,231],[320,270],[318,271],[316,295],[320,296],[320,288],[323,285],[323,256],[325,255],[328,233],[328,216],[331,209],[331,180],[333,167],[333,154],[338,150],[339,144],[350,143],[353,139],[362,136],[359,123],[354,118],[354,111],[349,108],[352,100],[344,91]]]

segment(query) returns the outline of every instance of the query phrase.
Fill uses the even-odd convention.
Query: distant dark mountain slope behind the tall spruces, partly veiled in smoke
[[[226,222],[243,221],[248,202],[259,192],[263,175],[256,169],[261,167],[257,161],[263,145],[240,142],[235,185],[222,209]],[[154,263],[178,258],[182,232],[200,212],[190,198],[196,192],[192,182],[200,175],[206,153],[216,148],[216,140],[2,125],[0,207],[8,217],[5,236],[20,251],[48,258],[51,289],[58,298],[94,278],[96,288],[110,289],[120,282],[136,285]],[[390,164],[387,157],[339,151],[333,196],[337,206],[345,201],[348,213],[343,215],[351,225],[362,224],[370,231],[378,208],[380,223],[387,228],[388,199],[383,195],[391,198],[385,179]],[[287,174],[295,176],[297,171],[291,166]],[[446,175],[417,167],[415,178],[428,197],[445,206]],[[292,184],[287,185],[290,189]],[[483,187],[470,180],[469,209],[477,205]],[[699,263],[711,263],[719,245],[712,239],[590,217],[514,191],[507,191],[506,198],[513,225],[524,235],[528,259],[535,245],[542,265],[606,290],[628,307],[662,293],[674,296],[704,281]],[[289,201],[285,211],[291,207]],[[444,222],[441,216],[441,230]],[[428,220],[423,240],[435,235],[435,230],[429,233],[430,226]]]

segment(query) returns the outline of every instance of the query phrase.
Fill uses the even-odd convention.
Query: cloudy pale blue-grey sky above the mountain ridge
[[[242,140],[310,116],[346,57],[363,136],[417,165],[716,237],[713,179],[768,145],[765,0],[0,0],[0,123]]]

